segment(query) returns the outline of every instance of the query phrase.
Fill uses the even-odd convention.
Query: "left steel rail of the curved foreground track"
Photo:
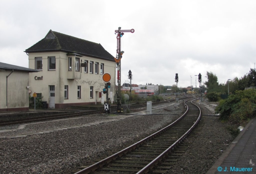
[[[187,112],[188,112],[188,107],[187,107],[186,112],[182,116],[180,116],[177,120],[172,122],[172,124],[166,126],[165,128],[162,128],[161,130],[155,132],[154,134],[136,142],[135,144],[132,144],[131,146],[129,146],[129,147],[123,149],[123,150],[121,150],[121,151],[119,151],[119,152],[117,152],[117,153],[115,153],[115,154],[113,154],[113,155],[111,155],[107,158],[104,158],[103,160],[100,160],[99,162],[96,162],[95,164],[92,164],[91,166],[88,166],[87,168],[84,168],[84,169],[76,172],[75,174],[88,174],[88,173],[104,166],[105,164],[111,162],[112,160],[115,160],[116,158],[121,157],[122,155],[126,154],[127,152],[130,152],[131,150],[134,150],[140,144],[144,144],[146,141],[151,140],[152,138],[154,138],[154,137],[158,136],[159,134],[161,134],[162,132],[164,132],[166,129],[168,129],[168,128],[174,126],[175,124],[177,124],[187,114]],[[200,112],[200,114],[201,114],[201,112]]]

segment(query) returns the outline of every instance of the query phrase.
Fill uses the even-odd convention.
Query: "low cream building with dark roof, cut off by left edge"
[[[0,112],[28,111],[30,72],[38,70],[0,62]]]

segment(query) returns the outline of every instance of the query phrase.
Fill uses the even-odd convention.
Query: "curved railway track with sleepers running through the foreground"
[[[177,147],[192,132],[201,117],[200,108],[192,101],[184,103],[187,105],[186,112],[172,124],[75,174],[166,173],[184,151],[186,144],[182,148]],[[172,158],[164,161],[168,155]]]

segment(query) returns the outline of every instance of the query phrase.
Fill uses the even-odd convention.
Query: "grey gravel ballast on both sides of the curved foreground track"
[[[166,104],[167,105],[170,105]],[[95,158],[100,158],[114,149],[144,138],[146,134],[171,123],[184,112],[183,103],[153,110],[152,114],[137,115],[118,121],[98,124],[47,134],[34,134],[25,138],[0,139],[0,173],[5,174],[70,174]],[[212,114],[202,106],[202,114]],[[84,118],[29,124],[16,132],[2,132],[0,136],[14,136],[27,132],[74,126],[118,117],[102,115]],[[192,141],[190,148],[172,166],[170,173],[206,173],[233,137],[218,117],[203,116],[204,127]],[[4,128],[1,128],[2,130]],[[0,129],[0,130],[1,130]]]

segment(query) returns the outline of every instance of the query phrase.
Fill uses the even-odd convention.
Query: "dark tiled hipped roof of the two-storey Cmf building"
[[[101,44],[68,36],[59,32],[50,30],[48,34],[26,49],[25,52],[42,52],[42,51],[63,51],[67,53],[78,53],[83,56],[92,56],[106,60],[114,61],[114,57],[107,52]]]

